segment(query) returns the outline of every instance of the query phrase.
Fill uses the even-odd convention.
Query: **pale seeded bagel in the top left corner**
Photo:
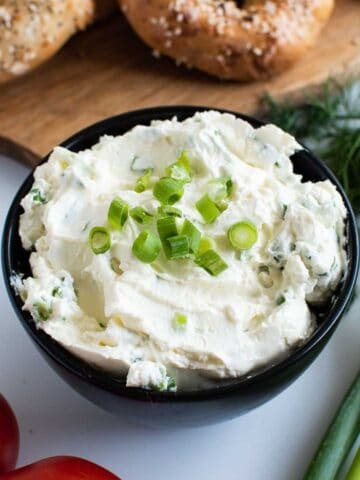
[[[114,0],[0,0],[0,84],[33,69]]]

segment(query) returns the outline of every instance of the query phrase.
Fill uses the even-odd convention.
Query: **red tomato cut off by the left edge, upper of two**
[[[20,434],[14,412],[0,395],[0,475],[16,466]]]

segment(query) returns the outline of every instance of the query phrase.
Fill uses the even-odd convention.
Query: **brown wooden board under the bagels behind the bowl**
[[[82,127],[126,110],[198,104],[250,113],[264,91],[299,96],[330,76],[359,72],[360,0],[337,0],[317,45],[294,68],[247,85],[156,60],[119,13],[73,38],[35,72],[0,87],[0,135],[43,155]]]

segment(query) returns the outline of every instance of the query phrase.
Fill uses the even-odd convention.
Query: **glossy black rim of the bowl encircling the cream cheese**
[[[84,141],[84,139],[96,136],[99,138],[105,135],[105,131],[111,129],[113,124],[117,124],[119,121],[129,121],[136,119],[136,117],[146,117],[148,124],[151,120],[154,120],[157,115],[166,115],[166,118],[170,119],[177,115],[185,115],[184,118],[190,117],[196,112],[215,110],[221,113],[229,113],[235,115],[237,118],[248,121],[255,128],[265,125],[266,122],[258,120],[249,115],[231,111],[221,108],[212,108],[198,105],[169,105],[161,107],[150,107],[137,110],[131,110],[125,113],[114,115],[112,117],[105,118],[99,122],[96,122],[86,128],[81,129],[77,133],[64,140],[60,146],[72,149],[76,147],[78,143]],[[137,123],[136,123],[137,124]],[[144,124],[139,122],[139,124]],[[133,128],[132,126],[129,129]],[[101,133],[100,133],[101,132]],[[331,170],[324,164],[323,161],[314,156],[314,154],[304,145],[303,152],[310,157],[310,159],[317,164],[317,168],[322,171],[324,176],[327,177],[337,188],[338,192],[342,196],[346,210],[347,210],[347,235],[348,242],[351,244],[351,256],[349,258],[348,273],[344,279],[344,285],[341,288],[341,292],[337,298],[337,306],[334,311],[331,311],[327,316],[326,321],[323,321],[315,330],[315,333],[307,339],[301,346],[297,347],[294,351],[290,352],[282,359],[275,360],[268,363],[259,371],[255,370],[245,374],[241,377],[231,379],[229,384],[214,386],[210,388],[200,390],[178,391],[178,392],[154,392],[148,391],[142,388],[128,388],[125,386],[124,378],[116,377],[114,374],[100,370],[93,367],[91,364],[85,362],[81,358],[72,354],[60,343],[46,334],[43,330],[35,326],[35,322],[32,320],[30,314],[22,310],[22,301],[15,294],[11,283],[10,277],[14,272],[11,264],[12,247],[10,239],[12,238],[15,224],[17,225],[20,207],[20,201],[24,195],[29,191],[33,183],[33,169],[26,177],[20,188],[18,189],[11,206],[9,208],[7,217],[4,223],[3,238],[2,238],[2,268],[6,289],[12,303],[12,306],[22,323],[23,327],[30,335],[32,340],[37,346],[51,357],[51,359],[59,366],[65,368],[67,372],[75,375],[76,377],[90,382],[91,384],[100,387],[108,392],[115,393],[120,397],[128,397],[136,400],[150,400],[153,402],[189,402],[189,401],[204,401],[213,400],[219,397],[230,396],[236,394],[241,390],[247,389],[253,385],[259,385],[271,381],[277,375],[281,375],[284,371],[291,369],[295,364],[301,362],[308,354],[316,349],[316,347],[322,342],[329,333],[337,327],[346,309],[353,289],[356,284],[357,274],[359,270],[359,236],[357,230],[357,223],[355,214],[351,207],[351,204],[344,192],[340,182],[337,180]],[[41,163],[44,163],[49,158],[51,152],[46,155]]]

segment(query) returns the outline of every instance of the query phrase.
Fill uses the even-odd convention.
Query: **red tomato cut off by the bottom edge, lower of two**
[[[0,476],[1,480],[121,480],[95,463],[76,457],[50,457]]]

